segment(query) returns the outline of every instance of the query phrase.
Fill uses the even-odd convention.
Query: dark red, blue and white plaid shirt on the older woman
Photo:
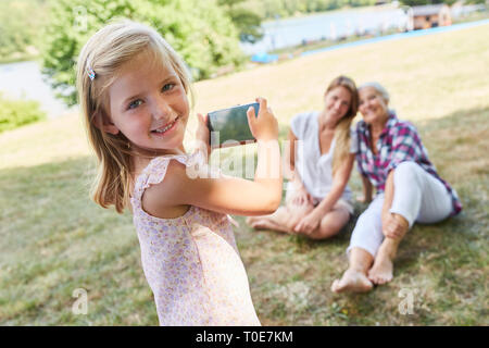
[[[356,124],[358,153],[356,163],[360,173],[367,177],[383,192],[387,175],[400,163],[412,161],[419,164],[426,172],[438,178],[452,196],[453,213],[462,210],[456,192],[437,173],[435,165],[428,160],[428,152],[423,146],[416,128],[409,122],[400,121],[394,113],[389,114],[386,127],[377,140],[377,154],[371,148],[371,130],[364,121]]]

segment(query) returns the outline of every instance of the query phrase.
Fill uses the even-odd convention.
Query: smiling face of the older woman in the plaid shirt
[[[374,87],[360,89],[359,111],[368,124],[383,123],[389,115],[386,100]]]

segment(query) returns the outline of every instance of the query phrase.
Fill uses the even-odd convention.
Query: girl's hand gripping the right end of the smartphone
[[[260,103],[258,117],[254,115],[254,109],[250,107],[247,111],[248,124],[251,134],[256,140],[276,140],[278,138],[278,122],[275,119],[272,109],[266,105],[266,99],[256,98]]]

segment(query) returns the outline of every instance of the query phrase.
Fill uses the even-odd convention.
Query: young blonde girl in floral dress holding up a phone
[[[278,124],[266,100],[258,99],[258,117],[248,110],[259,154],[251,182],[209,175],[200,114],[200,146],[186,153],[189,78],[154,29],[124,21],[95,34],[79,54],[77,88],[98,157],[93,199],[131,208],[160,324],[260,325],[226,214],[272,213],[280,202]]]

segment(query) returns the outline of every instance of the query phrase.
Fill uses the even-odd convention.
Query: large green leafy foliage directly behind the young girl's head
[[[76,103],[75,63],[82,47],[114,18],[155,28],[184,58],[195,79],[243,62],[238,32],[214,0],[51,0],[51,4],[43,73],[67,104]]]

